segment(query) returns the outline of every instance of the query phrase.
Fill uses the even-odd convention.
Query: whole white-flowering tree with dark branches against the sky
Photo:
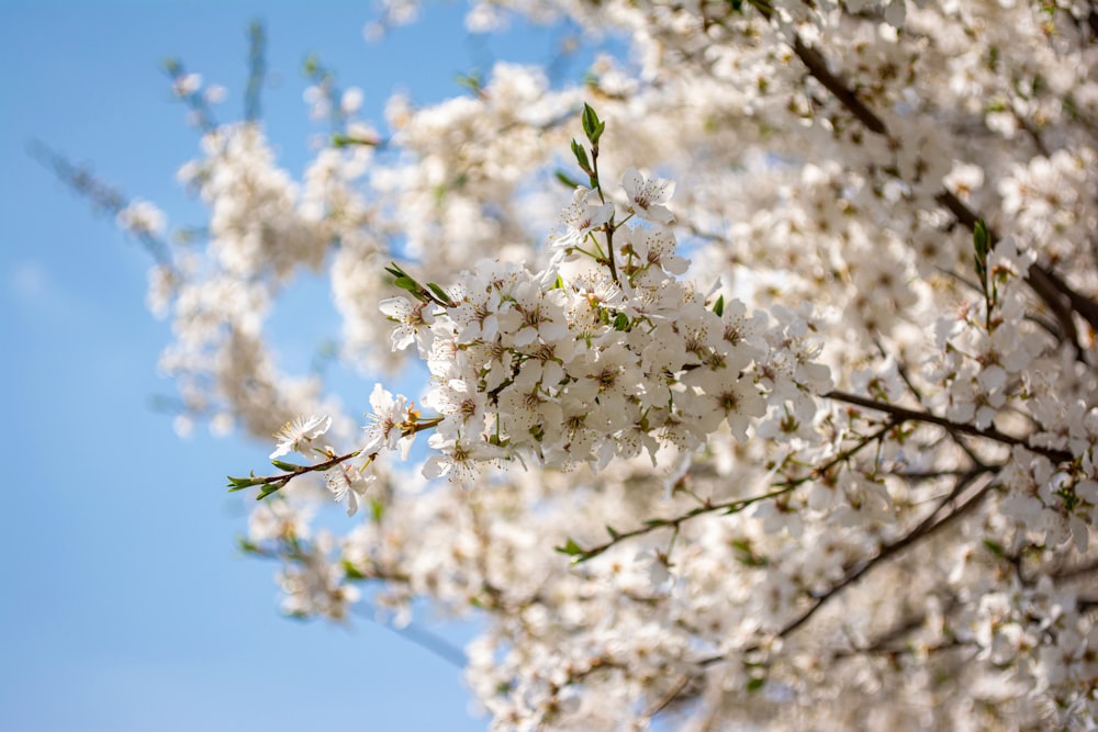
[[[378,122],[311,60],[334,133],[302,180],[258,103],[217,123],[171,65],[202,237],[100,201],[157,254],[180,417],[274,436],[272,468],[227,468],[285,611],[479,618],[498,730],[1094,729],[1098,7],[468,24],[514,16],[627,53],[564,85],[501,63]],[[303,272],[360,388],[274,357]],[[314,526],[333,502],[351,518]]]

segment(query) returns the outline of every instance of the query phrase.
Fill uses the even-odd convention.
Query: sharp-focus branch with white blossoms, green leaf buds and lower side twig
[[[547,270],[533,273],[485,263],[444,288],[421,283],[395,262],[385,268],[395,286],[412,299],[397,296],[381,303],[382,313],[395,324],[393,349],[416,345],[435,381],[424,402],[439,416],[424,419],[405,397],[393,397],[379,385],[371,397],[374,413],[368,447],[344,455],[327,448],[320,451],[323,460],[313,465],[276,461],[279,453],[299,450],[300,443],[323,431],[312,421],[291,424],[271,455],[276,468],[284,472],[231,477],[232,489],[261,486],[261,498],[293,477],[324,473],[356,457],[361,457],[361,472],[380,449],[401,447],[406,455],[414,437],[428,429],[435,430],[429,440],[434,453],[424,465],[424,475],[452,477],[503,460],[587,463],[597,469],[615,457],[632,457],[642,450],[654,463],[661,444],[670,441],[688,453],[703,446],[721,423],[743,440],[751,419],[765,414],[768,406],[785,408],[791,397],[810,398],[810,394],[890,415],[888,424],[870,438],[807,476],[775,484],[775,491],[747,499],[704,500],[684,515],[651,519],[626,532],[608,527],[610,540],[598,547],[584,549],[569,540],[558,548],[574,561],[584,561],[657,529],[677,532],[683,522],[697,516],[733,514],[777,498],[825,475],[905,421],[1024,446],[1057,462],[1071,460],[1065,451],[1031,446],[995,428],[829,391],[826,368],[810,362],[818,353],[816,347],[791,340],[787,334],[768,342],[760,323],[746,316],[742,303],[703,296],[692,284],[679,281],[687,263],[676,255],[674,235],[666,228],[674,221],[665,206],[674,192],[671,181],[627,170],[623,181],[626,212],[618,216],[597,168],[606,124],[586,104],[581,121],[590,147],[575,140],[571,147],[592,188],[576,188],[573,203],[562,215],[562,230],[550,237],[554,254]],[[634,217],[642,223],[627,226]],[[977,226],[975,246],[989,313],[997,290],[988,284],[990,243],[985,227]],[[565,262],[580,262],[579,272],[569,270],[568,279],[561,269]],[[792,350],[775,359],[782,349]],[[763,361],[766,365],[760,365]],[[775,372],[775,362],[786,363],[787,371]],[[334,476],[334,483],[333,475],[327,476],[329,487],[337,499],[348,497],[349,513],[354,513],[354,496],[365,492],[365,486],[355,489],[356,475],[348,471]]]

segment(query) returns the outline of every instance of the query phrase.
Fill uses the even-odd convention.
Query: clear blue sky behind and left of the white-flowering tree
[[[235,117],[246,29],[264,20],[278,81],[265,117],[299,172],[311,50],[365,89],[373,119],[396,87],[437,100],[493,56],[551,55],[549,33],[470,40],[440,4],[367,45],[368,1],[0,0],[0,732],[486,727],[458,669],[407,640],[279,615],[274,567],[234,549],[245,514],[223,489],[270,447],[175,437],[150,406],[173,386],[156,372],[169,334],[144,307],[148,258],[25,150],[42,139],[199,224],[173,179],[198,147],[165,57],[228,87]]]

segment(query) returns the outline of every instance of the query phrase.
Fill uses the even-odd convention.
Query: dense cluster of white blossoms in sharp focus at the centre
[[[430,438],[440,454],[425,465],[428,477],[504,457],[605,466],[647,450],[654,465],[665,444],[690,454],[721,425],[746,440],[769,403],[810,403],[807,395],[830,387],[827,367],[810,360],[819,351],[811,338],[786,337],[772,349],[742,303],[706,302],[676,279],[687,262],[665,227],[672,190],[626,171],[629,211],[649,222],[629,227],[614,225],[613,203],[578,189],[552,240],[554,259],[597,251],[613,269],[565,275],[489,261],[461,273],[445,304],[381,303],[397,324],[393,347],[415,342],[435,381],[424,404],[444,419]],[[373,419],[391,430],[399,423],[391,413]]]

